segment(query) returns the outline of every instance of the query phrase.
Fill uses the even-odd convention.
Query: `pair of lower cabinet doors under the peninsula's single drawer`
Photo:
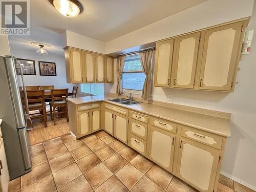
[[[100,130],[100,108],[78,112],[79,137]]]

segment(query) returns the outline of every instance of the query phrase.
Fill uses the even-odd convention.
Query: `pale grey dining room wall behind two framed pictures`
[[[77,84],[69,84],[66,80],[66,68],[65,68],[65,58],[64,52],[62,56],[60,54],[48,51],[48,55],[40,55],[35,52],[35,50],[29,50],[22,45],[12,45],[10,41],[11,54],[17,58],[32,59],[35,60],[35,70],[36,75],[24,75],[26,86],[38,86],[38,85],[54,85],[54,88],[69,88],[71,92],[73,86]],[[56,73],[57,76],[40,76],[38,61],[49,61],[56,63]]]

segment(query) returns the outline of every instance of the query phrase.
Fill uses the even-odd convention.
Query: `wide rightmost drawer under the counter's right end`
[[[188,126],[181,127],[181,136],[218,149],[222,146],[223,138],[221,136]]]

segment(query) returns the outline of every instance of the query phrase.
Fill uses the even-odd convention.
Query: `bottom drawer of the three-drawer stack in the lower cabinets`
[[[130,134],[129,135],[129,146],[134,148],[137,152],[141,153],[142,155],[146,155],[146,141],[143,139]]]

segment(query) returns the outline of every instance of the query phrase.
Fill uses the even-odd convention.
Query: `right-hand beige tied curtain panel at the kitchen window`
[[[140,51],[140,63],[146,75],[141,97],[145,100],[151,100],[153,53],[153,49]]]

